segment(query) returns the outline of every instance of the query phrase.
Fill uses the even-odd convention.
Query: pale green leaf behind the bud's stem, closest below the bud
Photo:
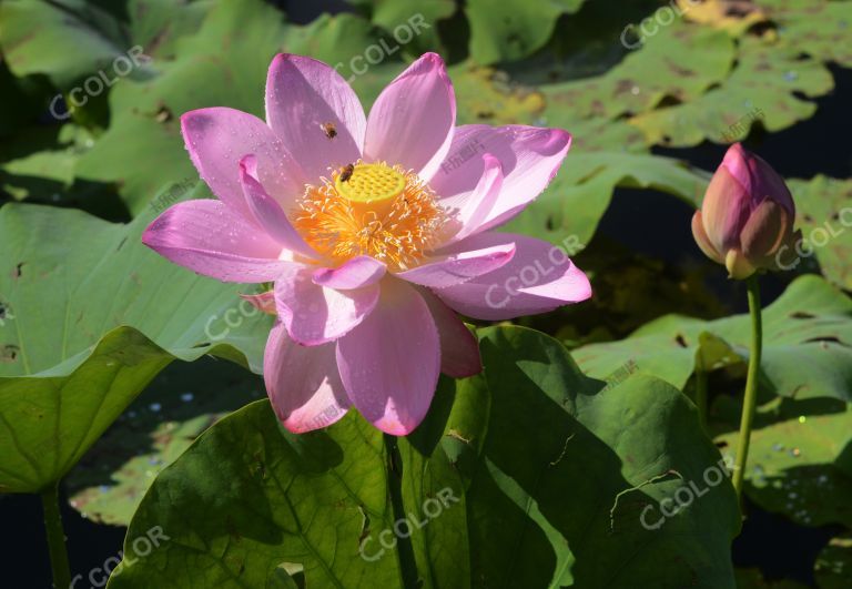
[[[744,296],[744,293],[743,293]],[[703,352],[706,369],[743,365],[751,324],[747,315],[704,322],[667,315],[621,342],[575,352],[595,377],[632,360],[637,370],[683,388]],[[852,299],[819,276],[797,278],[763,311],[762,383],[778,395],[852,399]]]

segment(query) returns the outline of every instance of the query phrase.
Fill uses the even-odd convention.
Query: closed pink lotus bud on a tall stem
[[[779,251],[801,240],[794,221],[793,197],[778,172],[734,143],[692,217],[692,234],[708,257],[742,280],[761,268],[779,270]]]

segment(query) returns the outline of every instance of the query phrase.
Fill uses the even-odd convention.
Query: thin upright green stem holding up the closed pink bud
[[[742,402],[740,441],[737,445],[737,460],[733,466],[733,488],[737,491],[738,498],[742,497],[742,480],[746,476],[746,461],[749,457],[751,425],[754,420],[754,408],[758,405],[758,374],[760,372],[760,355],[763,343],[758,275],[752,274],[746,281],[746,286],[749,293],[749,314],[751,315],[751,353],[749,356],[749,372],[746,377],[746,396]]]

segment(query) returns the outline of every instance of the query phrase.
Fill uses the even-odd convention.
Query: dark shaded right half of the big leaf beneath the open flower
[[[658,529],[642,522],[719,461],[686,397],[641,376],[601,388],[528,329],[486,331],[483,359],[489,435],[467,496],[471,546],[486,547],[477,586],[732,586],[727,481]]]

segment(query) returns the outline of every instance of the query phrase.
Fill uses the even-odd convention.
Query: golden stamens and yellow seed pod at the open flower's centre
[[[293,224],[302,237],[334,263],[371,255],[402,271],[417,265],[437,245],[447,216],[435,193],[410,171],[362,162],[308,185]]]

